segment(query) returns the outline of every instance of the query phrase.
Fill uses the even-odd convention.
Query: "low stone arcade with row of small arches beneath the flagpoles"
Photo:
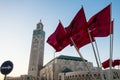
[[[99,71],[74,71],[68,73],[59,73],[58,80],[110,80],[109,69],[103,70],[103,79],[101,79]],[[120,70],[112,69],[112,79],[120,80]]]

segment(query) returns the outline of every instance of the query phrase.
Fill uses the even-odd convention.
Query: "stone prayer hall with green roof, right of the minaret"
[[[89,69],[95,70],[91,62],[85,61]],[[40,80],[57,80],[59,73],[73,71],[87,71],[83,60],[79,57],[61,55],[40,70]]]

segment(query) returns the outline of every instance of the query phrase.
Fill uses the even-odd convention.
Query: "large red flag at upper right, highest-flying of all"
[[[110,34],[110,6],[111,4],[89,19],[88,28],[93,37],[106,37]]]

